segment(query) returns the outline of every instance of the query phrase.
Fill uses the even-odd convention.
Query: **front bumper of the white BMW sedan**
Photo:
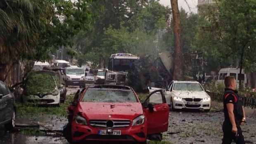
[[[211,109],[211,101],[203,101],[196,102],[196,104],[188,104],[187,101],[182,100],[173,100],[173,108],[174,109]]]

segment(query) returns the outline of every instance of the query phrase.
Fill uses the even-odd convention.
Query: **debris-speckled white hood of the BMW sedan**
[[[207,98],[209,95],[205,91],[172,91],[180,98]]]

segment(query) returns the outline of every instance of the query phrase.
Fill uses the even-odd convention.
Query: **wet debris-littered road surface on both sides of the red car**
[[[76,93],[79,88],[68,88],[67,95]],[[50,136],[30,133],[22,134],[21,130],[30,127],[43,125],[53,131],[61,132],[67,123],[63,116],[40,115],[30,118],[17,119],[17,128],[12,132],[3,133],[0,127],[0,144],[68,144],[64,137],[50,133]],[[221,144],[222,139],[223,112],[205,113],[201,111],[171,111],[169,114],[168,132],[164,132],[163,140],[170,144]],[[247,144],[256,144],[256,117],[247,118],[247,124],[242,126]],[[45,132],[40,126],[38,130]],[[49,133],[47,133],[49,134]],[[165,143],[167,144],[167,143]]]

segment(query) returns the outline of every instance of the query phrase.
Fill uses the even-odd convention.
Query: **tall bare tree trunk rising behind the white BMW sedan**
[[[173,61],[173,79],[183,79],[183,52],[181,46],[181,25],[178,0],[171,0],[171,9],[173,12],[173,33],[175,40],[174,61]]]

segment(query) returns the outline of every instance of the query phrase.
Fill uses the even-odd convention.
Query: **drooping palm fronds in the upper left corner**
[[[0,2],[0,61],[7,63],[29,53],[35,46],[40,7],[35,1],[1,0]]]

